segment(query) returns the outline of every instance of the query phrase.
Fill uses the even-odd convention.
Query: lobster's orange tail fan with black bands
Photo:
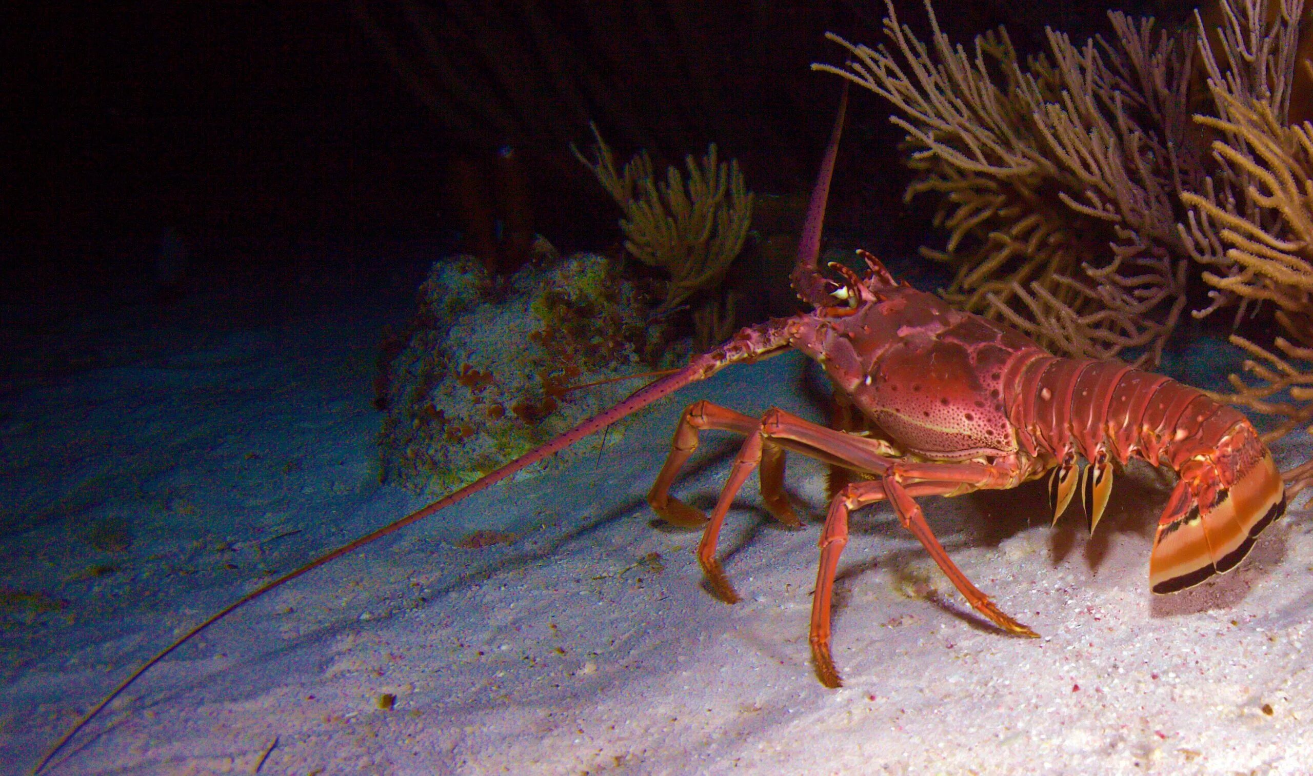
[[[1251,435],[1249,429],[1249,435],[1237,436]],[[1176,592],[1230,571],[1258,534],[1285,512],[1285,486],[1257,435],[1245,440],[1236,456],[1191,461],[1199,465],[1187,465],[1171,492],[1149,558],[1149,584],[1155,593]]]

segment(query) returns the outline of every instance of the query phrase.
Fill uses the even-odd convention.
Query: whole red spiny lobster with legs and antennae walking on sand
[[[848,515],[888,500],[898,520],[966,597],[1007,633],[1036,633],[1003,613],[957,569],[935,538],[915,496],[956,496],[1010,488],[1050,471],[1053,520],[1082,491],[1092,532],[1112,488],[1112,465],[1138,457],[1166,463],[1180,481],[1158,521],[1149,580],[1155,593],[1179,591],[1229,571],[1258,534],[1285,509],[1285,488],[1271,453],[1236,410],[1162,376],[1116,361],[1058,358],[1029,339],[939,297],[894,281],[871,253],[859,251],[867,274],[817,267],[821,225],[847,106],[839,106],[790,277],[811,313],[739,331],[688,366],[658,379],[611,410],[555,437],[482,479],[259,587],[180,637],[91,709],[37,764],[39,772],[101,709],[151,666],[234,609],[423,520],[676,390],[731,364],[750,364],[790,348],[818,361],[840,398],[846,428],[817,425],[783,410],[750,418],[701,400],[675,431],[666,465],[647,495],[651,508],[681,527],[702,527],[697,559],[717,597],[738,600],[720,562],[717,537],[748,475],[759,471],[767,509],[789,527],[801,521],[784,492],[784,458],[793,450],[856,473],[832,496],[821,533],[821,563],[811,607],[811,657],[826,687],[839,687],[830,654],[830,601],[835,569],[848,541]],[[670,495],[702,431],[746,437],[710,516]],[[1088,465],[1079,466],[1079,458]]]

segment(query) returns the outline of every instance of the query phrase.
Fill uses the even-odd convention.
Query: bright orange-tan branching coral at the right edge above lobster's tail
[[[1270,343],[1232,335],[1257,382],[1232,374],[1234,393],[1224,395],[1280,419],[1267,440],[1313,420],[1313,125],[1287,126],[1301,7],[1284,0],[1266,20],[1259,0],[1224,4],[1229,68],[1204,49],[1217,116],[1196,117],[1216,134],[1218,173],[1182,194],[1191,209],[1182,234],[1213,288],[1212,305],[1195,315],[1236,306],[1238,322],[1264,303],[1275,309],[1281,335]],[[1287,477],[1291,492],[1302,490],[1313,482],[1313,463]]]

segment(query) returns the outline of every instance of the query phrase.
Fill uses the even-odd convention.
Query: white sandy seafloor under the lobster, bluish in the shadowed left
[[[331,291],[274,299],[282,315],[217,294],[167,320],[72,316],[80,341],[104,330],[139,357],[5,402],[0,769],[32,768],[264,574],[423,504],[378,483],[369,404],[379,327],[410,289]],[[814,416],[807,385],[794,356],[722,373],[593,460],[293,582],[147,674],[50,772],[1313,772],[1304,499],[1232,574],[1154,597],[1171,478],[1146,467],[1119,479],[1092,540],[1078,508],[1050,529],[1035,483],[923,500],[961,569],[1040,639],[982,624],[886,507],[859,513],[834,636],[846,687],[823,688],[806,638],[821,467],[790,458],[801,532],[769,521],[755,478],[743,490],[721,542],[734,607],[704,591],[697,534],[654,528],[643,503],[684,404]],[[733,450],[705,445],[676,492],[709,507]],[[1309,454],[1279,448],[1283,467]],[[88,527],[106,524],[129,546],[96,549]],[[519,540],[456,546],[477,529]]]

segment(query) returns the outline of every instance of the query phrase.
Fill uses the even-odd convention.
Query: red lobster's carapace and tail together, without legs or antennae
[[[905,456],[981,461],[1006,473],[989,487],[1053,470],[1054,520],[1070,498],[1058,486],[1074,486],[1083,457],[1091,530],[1111,490],[1111,462],[1170,466],[1180,482],[1150,555],[1158,593],[1229,571],[1284,511],[1271,454],[1232,407],[1125,364],[1050,356],[1008,328],[889,282],[868,261],[863,290],[873,299],[846,318],[800,322],[790,344],[819,361],[872,433]],[[958,492],[968,490],[976,488]]]

